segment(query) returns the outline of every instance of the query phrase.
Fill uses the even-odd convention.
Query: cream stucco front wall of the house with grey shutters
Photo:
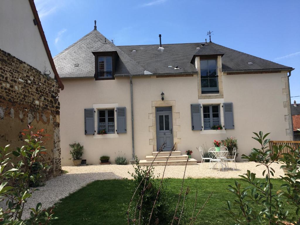
[[[290,140],[288,135],[288,111],[286,72],[236,74],[223,73],[223,95],[211,95],[211,99],[199,98],[197,75],[177,77],[133,76],[134,148],[138,159],[145,159],[156,149],[155,107],[172,107],[173,137],[177,150],[184,153],[192,150],[192,158],[201,159],[196,147],[213,146],[213,140],[236,137],[239,157],[249,154],[254,146],[252,132],[271,132],[271,140]],[[85,150],[83,159],[87,164],[98,164],[101,155],[110,155],[111,162],[119,155],[132,159],[131,95],[129,77],[115,80],[94,78],[63,79],[65,89],[61,91],[61,164],[72,164],[68,160],[69,144],[78,141]],[[164,92],[164,101],[161,92]],[[193,131],[190,105],[220,104],[220,122],[224,123],[222,105],[233,103],[234,129]],[[104,105],[101,105],[104,104]],[[127,133],[85,135],[85,108],[126,107]],[[203,118],[203,114],[202,114]],[[97,116],[95,115],[95,120]],[[116,122],[116,118],[115,118]],[[97,122],[95,122],[95,125]],[[96,128],[97,129],[97,128]],[[99,137],[99,138],[97,138]],[[258,146],[257,146],[258,147]]]

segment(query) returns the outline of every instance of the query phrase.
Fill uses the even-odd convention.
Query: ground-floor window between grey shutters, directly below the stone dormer
[[[204,130],[211,130],[214,125],[220,125],[220,105],[203,106]]]

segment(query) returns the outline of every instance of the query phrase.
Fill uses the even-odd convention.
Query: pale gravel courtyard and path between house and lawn
[[[208,170],[208,163],[204,163],[202,168],[200,164],[187,166],[186,178],[239,178],[238,175],[246,173],[250,170],[252,173],[256,173],[257,177],[262,177],[262,166],[256,167],[254,162],[237,162],[237,170],[233,171],[225,170],[218,171]],[[231,166],[229,164],[229,166]],[[276,171],[275,178],[279,178],[280,175],[284,176],[283,170],[280,169],[280,164],[273,164],[273,169]],[[41,202],[43,208],[48,208],[58,202],[61,198],[68,196],[70,193],[75,192],[86,184],[95,180],[104,179],[131,179],[128,171],[132,173],[132,165],[88,165],[88,166],[64,166],[63,170],[68,171],[66,174],[62,174],[59,177],[55,177],[49,181],[46,181],[44,187],[39,187],[32,198],[29,198],[26,208],[35,207],[38,202]],[[155,167],[155,174],[162,175],[164,166]],[[167,166],[165,177],[168,178],[182,178],[184,173],[184,166]],[[24,211],[24,217],[27,217],[29,211]]]

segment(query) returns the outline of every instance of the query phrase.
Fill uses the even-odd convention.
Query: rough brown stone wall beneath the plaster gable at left
[[[44,128],[50,135],[44,156],[52,166],[48,178],[61,172],[58,93],[55,79],[0,49],[0,146],[24,145],[21,131],[28,124],[33,131]]]

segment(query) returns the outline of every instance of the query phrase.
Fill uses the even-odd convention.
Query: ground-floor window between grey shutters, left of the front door
[[[103,132],[105,130],[105,132]],[[111,110],[98,110],[98,133],[115,133],[115,112]]]

